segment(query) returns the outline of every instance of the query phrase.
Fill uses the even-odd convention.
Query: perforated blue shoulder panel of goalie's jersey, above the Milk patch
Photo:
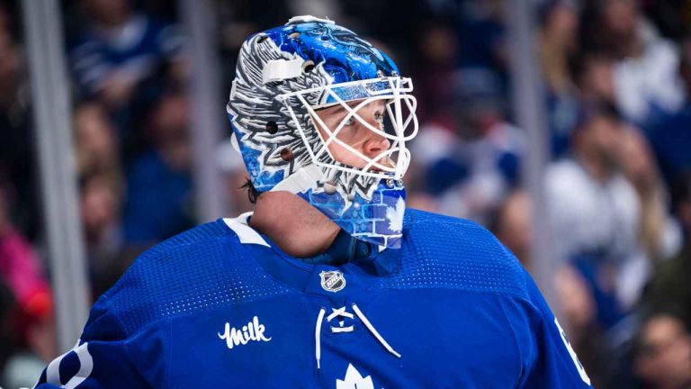
[[[286,293],[245,257],[237,237],[219,220],[149,249],[107,297],[132,333],[158,319]]]

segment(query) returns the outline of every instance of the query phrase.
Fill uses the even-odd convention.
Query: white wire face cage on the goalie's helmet
[[[341,97],[341,95],[349,95],[347,93],[344,94],[344,91],[352,90],[359,91],[359,93],[355,94],[357,97],[363,97],[363,91],[366,91],[365,93],[368,96],[351,100],[345,100]],[[408,169],[410,151],[406,147],[406,142],[415,138],[418,130],[417,116],[415,114],[417,100],[414,95],[410,95],[412,90],[413,85],[410,78],[381,77],[328,86],[317,86],[279,95],[277,100],[283,102],[288,113],[290,113],[296,130],[299,132],[310,156],[311,163],[322,167],[325,172],[341,171],[347,173],[344,176],[349,179],[341,183],[347,188],[346,191],[351,192],[359,186],[361,189],[364,189],[360,195],[368,198],[376,185],[367,185],[365,181],[375,184],[379,179],[393,178],[400,180]],[[320,95],[320,101],[334,101],[335,103],[310,104],[308,101],[309,95]],[[314,101],[313,99],[310,100]],[[372,125],[368,118],[363,118],[358,112],[366,105],[381,100],[386,102],[387,120],[386,123],[382,123],[381,127],[376,127]],[[355,104],[348,104],[353,102]],[[302,122],[299,119],[301,115],[297,114],[293,108],[296,105],[301,106],[309,113],[307,122]],[[328,128],[328,125],[321,119],[317,111],[336,105],[343,107],[346,115],[338,122],[336,128]],[[347,144],[344,140],[339,139],[338,134],[352,120],[359,122],[364,128],[372,131],[377,136],[389,140],[390,147],[382,149],[379,154],[370,157],[355,149],[354,145]],[[318,131],[317,126],[319,126],[321,131]],[[310,140],[314,139],[312,131],[316,131],[319,135],[319,143],[310,142]],[[364,166],[354,167],[338,161],[329,150],[331,143],[338,144],[351,152],[355,157],[362,159]],[[390,164],[389,161],[394,163]],[[327,177],[328,180],[333,180],[334,175],[327,174]],[[361,185],[354,185],[353,181],[357,180],[358,177],[361,180]],[[364,179],[365,177],[376,179]],[[341,178],[344,177],[342,176]],[[352,197],[351,193],[346,195]]]

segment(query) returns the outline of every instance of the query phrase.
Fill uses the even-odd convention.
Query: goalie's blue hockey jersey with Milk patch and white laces
[[[409,210],[401,249],[292,258],[247,215],[143,254],[40,389],[587,388],[533,280],[479,225]]]

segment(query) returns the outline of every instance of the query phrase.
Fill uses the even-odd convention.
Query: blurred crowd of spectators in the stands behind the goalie
[[[199,222],[191,63],[175,1],[61,5],[95,298],[142,250]],[[60,353],[20,6],[0,2],[0,385],[10,388],[31,386]],[[528,269],[531,210],[545,207],[558,312],[595,387],[691,387],[691,1],[534,1],[545,204],[523,185],[530,145],[512,124],[505,1],[213,7],[223,100],[242,41],[292,15],[328,15],[387,52],[419,104],[410,206],[484,224]],[[229,141],[209,158],[232,213],[251,209]]]

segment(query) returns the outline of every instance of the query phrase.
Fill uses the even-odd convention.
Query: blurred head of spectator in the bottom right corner
[[[691,387],[691,334],[678,317],[657,313],[644,321],[634,354],[634,373],[646,387]]]

